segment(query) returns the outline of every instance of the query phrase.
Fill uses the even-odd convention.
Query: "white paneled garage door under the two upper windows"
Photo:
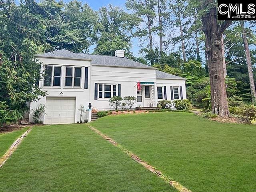
[[[75,104],[75,98],[46,98],[44,124],[74,123]]]

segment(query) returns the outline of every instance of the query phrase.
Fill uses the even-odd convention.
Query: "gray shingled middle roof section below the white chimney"
[[[92,65],[155,69],[154,67],[144,65],[142,63],[135,62],[133,60],[123,58],[123,57],[93,55],[93,54],[78,54],[78,55],[91,59]]]

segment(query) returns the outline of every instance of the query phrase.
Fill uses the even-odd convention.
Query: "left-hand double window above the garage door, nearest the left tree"
[[[60,87],[61,67],[45,66],[44,68],[44,86]]]

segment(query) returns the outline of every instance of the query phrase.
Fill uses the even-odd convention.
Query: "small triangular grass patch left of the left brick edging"
[[[0,134],[0,157],[10,148],[13,142],[20,137],[28,128]]]

